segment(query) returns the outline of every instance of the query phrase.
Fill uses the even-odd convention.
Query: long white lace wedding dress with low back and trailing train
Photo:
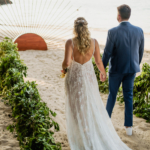
[[[71,150],[131,150],[121,141],[107,114],[92,58],[83,65],[73,59],[65,78],[65,90]]]

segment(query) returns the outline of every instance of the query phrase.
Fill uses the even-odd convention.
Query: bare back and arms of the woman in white
[[[64,57],[64,61],[62,63],[62,68],[65,69],[68,66],[70,66],[73,58],[74,58],[75,62],[77,62],[81,65],[85,64],[92,58],[92,55],[95,58],[95,63],[97,65],[98,69],[100,70],[101,75],[105,76],[105,77],[101,77],[101,81],[105,81],[106,80],[106,72],[105,72],[101,57],[100,57],[99,44],[96,39],[91,38],[91,45],[90,45],[89,51],[85,55],[82,55],[79,52],[79,50],[76,46],[76,43],[74,43],[72,39],[67,40],[67,42],[65,44],[65,57]]]

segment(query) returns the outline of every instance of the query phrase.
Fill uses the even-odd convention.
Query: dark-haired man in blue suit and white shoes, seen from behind
[[[132,135],[133,126],[133,85],[144,52],[143,30],[128,22],[131,8],[128,5],[117,7],[119,26],[108,31],[107,43],[103,54],[106,68],[109,61],[109,96],[106,109],[111,117],[118,89],[122,83],[125,102],[125,129]],[[101,80],[102,75],[100,75]]]

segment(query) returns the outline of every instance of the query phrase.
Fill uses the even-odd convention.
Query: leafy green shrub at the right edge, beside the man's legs
[[[143,64],[142,73],[134,80],[133,113],[150,122],[150,65]],[[117,100],[124,102],[122,88],[119,89]]]

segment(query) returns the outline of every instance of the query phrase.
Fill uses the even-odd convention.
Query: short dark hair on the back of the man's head
[[[131,15],[131,8],[128,5],[121,5],[117,7],[118,12],[122,19],[129,19]]]

